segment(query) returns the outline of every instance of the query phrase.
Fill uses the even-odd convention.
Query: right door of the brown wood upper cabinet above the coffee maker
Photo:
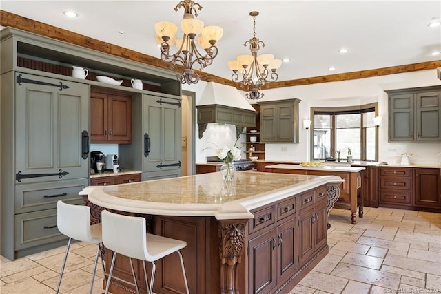
[[[123,143],[132,140],[130,96],[109,95],[109,140]]]

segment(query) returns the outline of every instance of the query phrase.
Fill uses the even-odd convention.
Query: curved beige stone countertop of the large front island
[[[112,186],[89,186],[79,194],[101,207],[163,216],[253,218],[252,209],[314,189],[338,176],[303,176],[236,171],[224,185],[220,172]]]

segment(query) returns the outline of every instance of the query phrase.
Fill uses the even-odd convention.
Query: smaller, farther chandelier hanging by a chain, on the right
[[[249,15],[253,17],[253,37],[246,41],[243,46],[247,47],[247,44],[249,44],[249,50],[252,55],[239,55],[236,60],[228,61],[228,67],[233,71],[232,81],[238,81],[238,72],[242,72],[242,81],[238,83],[240,83],[240,87],[245,87],[249,91],[247,98],[254,100],[263,97],[263,93],[259,91],[264,85],[269,87],[268,84],[270,82],[277,81],[278,74],[276,70],[282,65],[282,61],[274,59],[273,54],[257,56],[260,45],[265,47],[265,43],[256,38],[256,17],[259,15],[259,12],[252,11],[249,12]],[[268,78],[271,81],[268,81]]]

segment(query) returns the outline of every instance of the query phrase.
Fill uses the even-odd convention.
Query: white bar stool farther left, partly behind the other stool
[[[57,228],[63,235],[69,237],[69,241],[66,248],[66,253],[64,255],[63,265],[61,266],[56,293],[59,293],[60,290],[61,279],[63,278],[66,260],[68,260],[70,242],[72,239],[98,245],[98,249],[96,249],[94,272],[92,273],[92,283],[90,284],[89,291],[89,293],[92,293],[96,273],[96,264],[98,263],[98,256],[101,256],[101,247],[99,245],[103,242],[103,239],[101,238],[101,224],[90,225],[90,207],[67,204],[59,200],[57,202]],[[101,256],[101,264],[103,265],[103,272],[105,276],[103,256]]]

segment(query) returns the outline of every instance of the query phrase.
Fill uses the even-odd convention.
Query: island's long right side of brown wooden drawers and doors
[[[300,276],[301,267],[326,248],[327,194],[323,191],[325,187],[319,187],[252,211],[249,293],[273,293],[294,275]]]

